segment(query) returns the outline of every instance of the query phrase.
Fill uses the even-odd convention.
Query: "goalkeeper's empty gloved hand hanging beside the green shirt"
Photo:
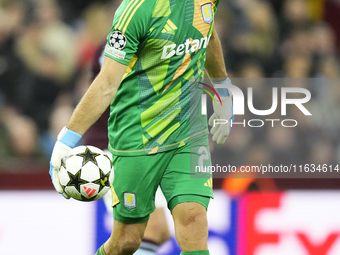
[[[229,78],[223,82],[214,83],[217,84],[231,84]],[[215,95],[215,102],[213,102],[214,113],[209,118],[209,126],[212,126],[210,133],[212,135],[212,140],[217,144],[223,144],[231,130],[231,121],[234,119],[232,110],[232,94],[227,88],[215,88],[217,93],[220,95],[222,105]]]

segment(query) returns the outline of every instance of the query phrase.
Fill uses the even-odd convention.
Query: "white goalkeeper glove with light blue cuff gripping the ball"
[[[81,134],[69,130],[67,127],[63,127],[57,137],[57,142],[54,145],[51,156],[49,173],[52,179],[53,186],[58,193],[62,194],[67,199],[69,199],[70,196],[64,192],[64,189],[60,184],[58,171],[61,166],[61,160],[77,144],[81,137]]]

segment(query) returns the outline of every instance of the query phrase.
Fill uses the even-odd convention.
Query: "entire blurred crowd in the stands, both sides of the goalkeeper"
[[[0,170],[18,159],[49,160],[89,85],[91,59],[119,4],[0,0]],[[298,87],[312,94],[306,107],[313,116],[295,108],[285,117],[298,120],[295,128],[236,126],[226,144],[211,144],[215,163],[340,161],[340,34],[332,23],[339,15],[335,0],[220,1],[215,27],[233,82],[258,80],[255,108],[268,109],[275,79],[300,80]],[[255,117],[239,121],[247,118]]]

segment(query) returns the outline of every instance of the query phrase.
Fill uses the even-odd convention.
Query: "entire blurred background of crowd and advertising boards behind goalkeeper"
[[[48,162],[119,3],[0,0],[0,254],[90,255],[110,231],[101,201],[53,191]],[[223,146],[211,143],[213,164],[339,164],[340,1],[221,0],[215,26],[232,80],[299,81],[313,117],[292,112],[295,128],[236,126]],[[266,106],[268,88],[255,90]],[[339,178],[257,177],[215,179],[211,254],[340,254]],[[175,239],[159,254],[179,254]]]

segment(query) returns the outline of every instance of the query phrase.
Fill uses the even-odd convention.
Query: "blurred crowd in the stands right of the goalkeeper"
[[[270,116],[249,112],[236,116],[236,122],[246,124],[234,125],[223,146],[211,143],[213,162],[234,166],[340,163],[340,34],[336,30],[340,2],[231,0],[221,9],[216,28],[233,84],[245,95],[252,87],[254,107],[262,110],[271,107],[272,89],[278,87],[279,106]],[[282,87],[310,91],[311,100],[304,106],[312,116],[293,106],[283,116]],[[292,97],[304,95],[288,96]],[[275,122],[272,127],[264,121],[257,128],[249,127],[260,125],[249,125],[251,119],[294,119],[298,124],[289,128]]]

